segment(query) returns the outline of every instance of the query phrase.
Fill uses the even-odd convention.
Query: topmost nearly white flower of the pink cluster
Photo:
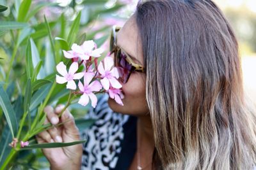
[[[93,50],[95,48],[95,50]],[[71,49],[78,53],[81,60],[88,60],[90,56],[92,57],[100,57],[103,52],[102,48],[96,48],[96,44],[90,41],[84,41],[83,45],[79,46],[77,44],[73,44]]]

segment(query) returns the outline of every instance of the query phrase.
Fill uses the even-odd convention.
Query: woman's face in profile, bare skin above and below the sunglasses
[[[144,66],[141,40],[134,16],[127,20],[124,27],[116,34],[116,45],[129,54],[136,64]],[[120,106],[109,97],[109,107],[113,111],[129,115],[145,115],[148,113],[145,73],[132,72],[127,83],[121,84],[124,93],[124,99],[122,100],[124,106]]]

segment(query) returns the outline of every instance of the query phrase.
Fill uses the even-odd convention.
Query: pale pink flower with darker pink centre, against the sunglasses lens
[[[98,70],[101,74],[102,80],[100,80],[104,89],[109,89],[109,84],[115,89],[120,89],[122,85],[116,80],[119,78],[119,73],[116,67],[114,66],[114,61],[111,57],[105,57],[104,59],[104,67],[102,62],[100,62]]]

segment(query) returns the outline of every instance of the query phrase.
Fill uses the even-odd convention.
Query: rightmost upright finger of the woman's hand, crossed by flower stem
[[[64,107],[65,106],[63,104],[57,106],[55,112],[57,114],[60,114]],[[68,136],[72,137],[73,139],[79,139],[79,130],[76,127],[74,117],[72,116],[70,111],[68,111],[68,109],[63,111],[60,120],[61,122],[63,122],[64,132],[67,133]]]

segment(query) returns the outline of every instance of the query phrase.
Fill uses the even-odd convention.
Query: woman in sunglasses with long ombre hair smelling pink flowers
[[[86,159],[102,154],[93,148],[101,147],[97,139],[108,136],[98,137],[111,131],[92,126],[87,134],[96,137],[89,138],[83,153],[81,145],[44,150],[52,169],[79,169],[81,164],[84,169],[253,169],[256,117],[244,97],[236,37],[212,1],[140,2],[114,41],[116,64],[133,66],[131,74],[129,67],[123,68],[120,80],[124,106],[108,99],[113,113],[102,99],[89,115],[99,118],[98,123],[109,114],[118,117],[117,129],[123,132],[118,142],[123,145],[119,150],[120,145],[111,145],[108,153],[115,150],[116,157],[102,157],[102,164]],[[45,108],[52,124],[59,121],[60,110]],[[68,115],[66,111],[60,121],[72,119]],[[103,122],[113,123],[108,120]],[[63,129],[37,138],[67,142],[79,134],[72,119]]]

